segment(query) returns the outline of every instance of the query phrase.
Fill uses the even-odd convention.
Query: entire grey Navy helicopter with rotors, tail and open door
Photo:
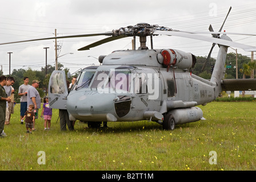
[[[132,49],[101,55],[98,59],[100,65],[81,69],[71,90],[67,88],[65,72],[54,71],[49,80],[49,105],[55,109],[66,109],[70,121],[84,121],[89,127],[100,127],[102,122],[147,120],[159,123],[165,130],[174,130],[176,125],[205,119],[198,106],[214,101],[222,91],[256,90],[256,79],[223,80],[228,47],[238,47],[245,51],[256,51],[256,47],[232,42],[227,36],[229,33],[221,32],[222,27],[218,32],[214,32],[211,25],[210,32],[190,32],[138,23],[99,34],[19,42],[109,36],[78,49],[85,51],[113,40],[133,37]],[[209,33],[212,37],[199,35]],[[153,36],[159,35],[211,42],[211,51],[218,44],[219,52],[210,80],[191,73],[197,61],[192,53],[172,48],[154,49]],[[140,42],[138,49],[135,48],[137,36]],[[147,36],[150,36],[150,49],[146,46]]]

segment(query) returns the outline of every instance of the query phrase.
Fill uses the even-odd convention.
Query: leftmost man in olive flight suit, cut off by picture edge
[[[6,85],[6,76],[0,77],[0,138],[3,138],[3,128],[5,127],[5,114],[6,114],[6,102],[10,102],[11,99],[7,98],[5,88]]]

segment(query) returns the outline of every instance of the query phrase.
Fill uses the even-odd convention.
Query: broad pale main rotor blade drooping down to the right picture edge
[[[250,51],[250,52],[251,51],[256,51],[256,47],[253,47],[253,46],[247,46],[245,44],[231,42],[229,40],[209,38],[209,37],[203,36],[203,35],[189,34],[189,33],[179,32],[179,31],[161,31],[161,30],[157,30],[153,33],[153,35],[173,35],[173,36],[179,36],[179,37],[183,37],[183,38],[203,40],[203,41],[206,41],[206,42],[221,44],[221,45],[224,45],[224,46],[238,47],[238,48],[242,48],[244,51]]]

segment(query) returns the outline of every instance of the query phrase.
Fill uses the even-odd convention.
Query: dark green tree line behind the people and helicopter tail
[[[238,78],[255,78],[254,75],[251,75],[251,70],[256,69],[256,61],[254,60],[251,62],[251,58],[247,56],[243,56],[241,54],[237,55],[238,59]],[[215,59],[213,57],[210,58],[210,60],[207,63],[207,66],[205,67],[204,71],[202,71],[203,64],[206,61],[207,56],[197,56],[197,63],[195,64],[195,67],[193,68],[192,73],[194,75],[200,76],[205,79],[211,78],[211,68],[215,64]],[[231,52],[227,54],[226,57],[226,65],[231,65],[231,68],[226,68],[226,74],[225,78],[235,78],[236,77],[236,55],[235,53]],[[11,76],[15,78],[15,83],[13,85],[13,88],[15,90],[15,101],[19,103],[19,96],[18,96],[18,90],[19,86],[23,84],[23,77],[29,77],[29,84],[31,85],[31,82],[33,80],[39,80],[41,81],[38,92],[41,97],[45,96],[46,94],[46,88],[48,88],[49,80],[51,73],[55,70],[55,67],[52,65],[47,65],[47,74],[46,74],[46,67],[41,67],[41,71],[34,71],[31,68],[28,69],[14,69],[11,73]],[[58,63],[58,70],[64,70],[66,73],[69,72],[69,68],[64,68],[61,63]],[[6,75],[9,76],[9,75]],[[71,80],[69,80],[71,81]]]

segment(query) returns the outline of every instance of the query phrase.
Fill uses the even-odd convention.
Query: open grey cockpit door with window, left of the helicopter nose
[[[49,80],[49,105],[54,109],[67,109],[67,82],[65,71],[53,71]]]

